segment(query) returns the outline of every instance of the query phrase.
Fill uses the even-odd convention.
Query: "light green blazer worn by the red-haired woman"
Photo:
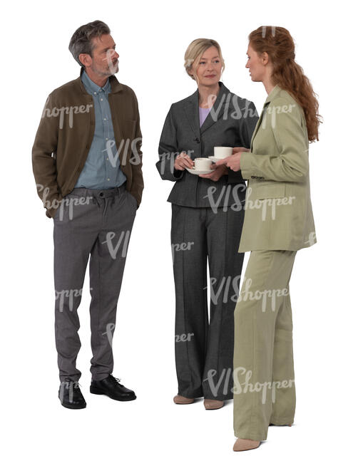
[[[316,243],[305,114],[278,85],[267,95],[240,164],[248,182],[238,251],[297,251]]]

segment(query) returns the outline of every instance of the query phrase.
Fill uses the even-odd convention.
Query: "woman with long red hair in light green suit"
[[[309,142],[320,116],[310,80],[295,62],[283,27],[249,35],[246,68],[267,99],[250,150],[217,162],[248,180],[239,252],[251,251],[235,307],[235,451],[254,449],[269,425],[295,416],[292,311],[289,283],[299,249],[316,243],[310,199]]]

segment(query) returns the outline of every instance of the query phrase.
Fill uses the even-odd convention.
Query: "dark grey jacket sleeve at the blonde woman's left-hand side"
[[[183,178],[185,170],[174,169],[175,157],[179,155],[176,137],[176,128],[173,121],[173,105],[170,106],[169,113],[165,118],[165,123],[159,141],[159,161],[155,166],[163,180],[176,182]]]

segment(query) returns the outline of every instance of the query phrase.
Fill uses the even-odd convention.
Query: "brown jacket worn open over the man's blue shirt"
[[[81,75],[48,95],[34,146],[32,167],[46,216],[53,217],[61,199],[70,193],[85,165],[95,129],[93,98]],[[126,189],[137,200],[143,192],[142,134],[138,102],[133,90],[110,76],[108,94],[116,147],[121,170],[127,177]]]

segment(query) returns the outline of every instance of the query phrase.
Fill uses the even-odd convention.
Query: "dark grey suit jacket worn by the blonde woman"
[[[254,103],[231,93],[222,82],[213,108],[199,126],[198,89],[184,100],[173,103],[165,119],[159,142],[156,167],[163,180],[175,182],[168,202],[189,207],[230,206],[245,201],[245,180],[241,172],[213,180],[174,170],[175,157],[188,152],[191,159],[214,155],[215,146],[250,148],[252,133],[258,120]]]

